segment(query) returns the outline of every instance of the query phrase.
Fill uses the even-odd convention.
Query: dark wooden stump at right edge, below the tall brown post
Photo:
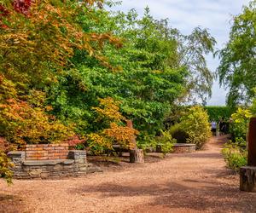
[[[256,193],[256,167],[243,166],[240,168],[240,190]]]

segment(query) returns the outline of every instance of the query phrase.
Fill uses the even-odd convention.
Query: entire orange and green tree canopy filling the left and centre
[[[96,152],[131,147],[132,135],[163,132],[178,103],[211,95],[205,55],[216,41],[207,29],[183,35],[148,8],[140,17],[105,4],[114,6],[0,1],[0,137],[15,148],[73,135]]]

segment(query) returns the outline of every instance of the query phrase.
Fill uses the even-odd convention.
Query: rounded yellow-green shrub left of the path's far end
[[[186,142],[195,143],[197,149],[201,149],[212,135],[209,116],[202,107],[190,107],[181,118],[179,125],[180,130],[188,135]]]

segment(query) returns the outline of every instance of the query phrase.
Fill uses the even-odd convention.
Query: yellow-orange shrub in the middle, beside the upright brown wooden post
[[[99,129],[87,136],[87,146],[94,154],[106,153],[113,150],[113,144],[125,148],[133,148],[134,138],[138,131],[126,126],[126,118],[119,112],[119,101],[113,98],[100,99],[99,107],[93,107],[96,112],[96,124]]]

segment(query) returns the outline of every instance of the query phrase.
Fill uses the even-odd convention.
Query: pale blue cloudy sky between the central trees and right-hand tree
[[[183,34],[189,34],[196,26],[207,28],[218,42],[216,48],[222,49],[229,41],[232,16],[240,14],[242,6],[248,3],[249,0],[123,0],[115,10],[137,9],[143,14],[143,9],[148,6],[155,19],[168,18],[170,25]],[[219,60],[207,55],[207,64],[214,72]],[[226,94],[215,81],[207,105],[225,105]]]

